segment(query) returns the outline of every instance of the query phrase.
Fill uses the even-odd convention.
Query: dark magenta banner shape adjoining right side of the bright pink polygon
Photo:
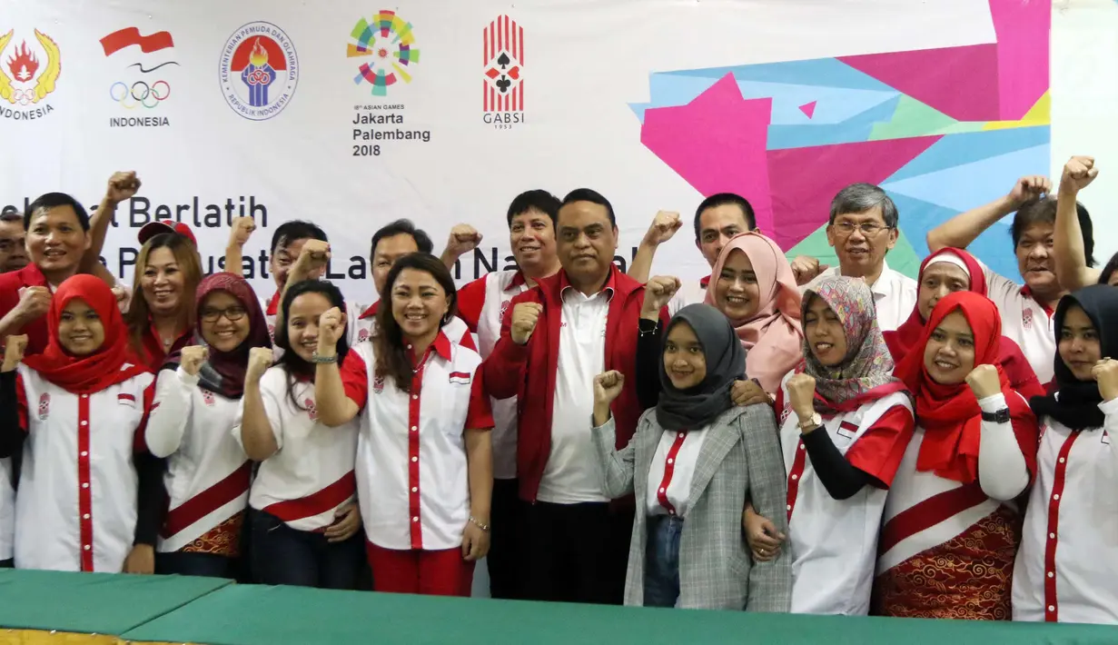
[[[881,183],[940,136],[770,150],[773,217],[780,222],[774,239],[784,249],[799,244],[827,222],[840,190],[859,181]]]

